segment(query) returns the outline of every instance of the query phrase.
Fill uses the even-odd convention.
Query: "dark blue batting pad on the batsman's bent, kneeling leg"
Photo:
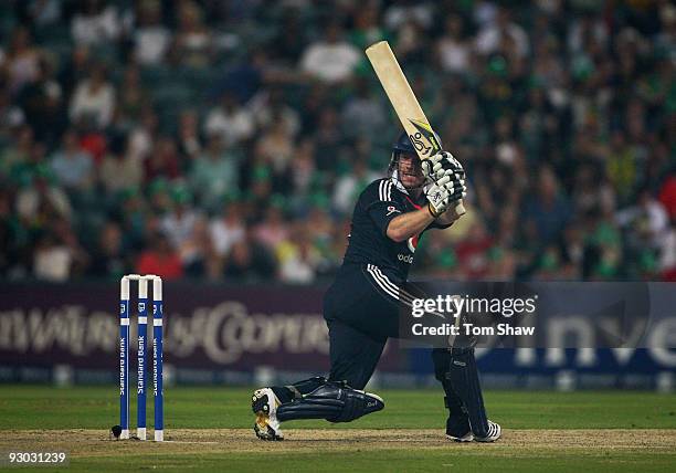
[[[298,419],[326,419],[349,422],[384,408],[376,395],[352,389],[341,382],[327,382],[300,399],[277,408],[281,422]]]

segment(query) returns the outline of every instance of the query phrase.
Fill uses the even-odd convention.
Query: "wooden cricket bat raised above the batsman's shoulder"
[[[380,41],[366,50],[366,54],[380,80],[382,88],[388,94],[388,98],[399,116],[399,120],[404,130],[411,138],[411,143],[421,160],[430,159],[441,151],[441,144],[432,132],[432,126],[427,122],[415,94],[411,90],[406,76],[403,74],[394,53],[387,41]],[[463,201],[460,200],[455,206],[455,213],[465,213]]]

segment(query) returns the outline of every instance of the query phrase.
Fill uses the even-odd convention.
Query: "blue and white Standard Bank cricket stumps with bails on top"
[[[129,282],[138,281],[138,367],[136,435],[146,440],[148,281],[152,281],[152,391],[155,441],[165,439],[162,391],[162,280],[154,274],[127,274],[119,286],[119,425],[120,439],[129,439]]]

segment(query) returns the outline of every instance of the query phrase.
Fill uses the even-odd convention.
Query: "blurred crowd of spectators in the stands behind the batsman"
[[[0,278],[321,282],[400,129],[388,40],[468,213],[414,270],[676,281],[669,1],[0,4]]]

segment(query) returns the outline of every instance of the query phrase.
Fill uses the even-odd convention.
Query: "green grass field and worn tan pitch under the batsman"
[[[378,393],[382,412],[289,422],[284,442],[262,442],[251,431],[251,389],[169,387],[158,444],[109,440],[119,417],[113,387],[3,385],[0,452],[65,450],[65,471],[676,471],[676,395],[492,391],[486,406],[504,438],[457,444],[444,439],[440,391]],[[150,396],[150,438],[151,427]]]

